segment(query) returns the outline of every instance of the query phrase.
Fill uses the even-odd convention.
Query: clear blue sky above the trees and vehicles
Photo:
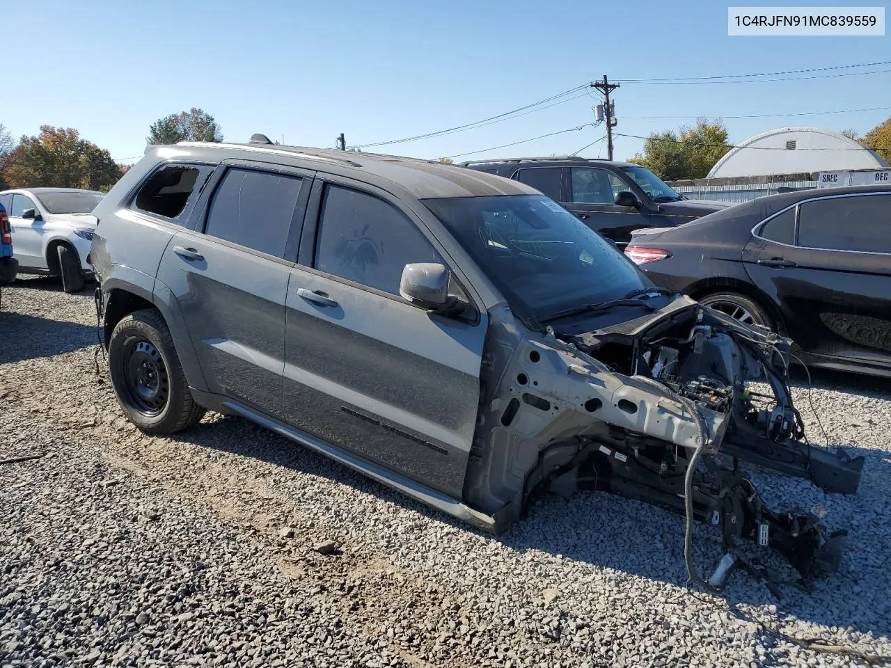
[[[16,137],[37,134],[41,125],[74,127],[116,159],[140,156],[151,122],[191,107],[217,118],[226,140],[262,132],[331,147],[340,132],[353,145],[470,123],[604,74],[707,77],[891,61],[887,36],[728,37],[727,3],[715,2],[29,0],[5,3],[2,20],[0,123]],[[614,97],[616,132],[646,135],[692,121],[625,117],[891,108],[891,72],[626,83]],[[520,118],[378,150],[425,158],[479,151],[589,123],[594,103],[584,94]],[[891,109],[725,122],[740,142],[789,125],[864,133],[889,116]],[[589,126],[462,159],[570,153],[602,134],[602,126]],[[582,155],[605,156],[603,144]],[[617,137],[615,157],[641,146]]]

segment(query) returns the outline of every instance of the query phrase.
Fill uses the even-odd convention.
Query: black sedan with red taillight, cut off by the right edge
[[[792,338],[805,363],[891,377],[891,189],[772,195],[633,232],[658,285]]]

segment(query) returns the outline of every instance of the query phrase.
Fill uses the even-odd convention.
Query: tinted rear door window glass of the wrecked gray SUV
[[[302,183],[298,176],[230,169],[214,195],[204,233],[284,257]]]

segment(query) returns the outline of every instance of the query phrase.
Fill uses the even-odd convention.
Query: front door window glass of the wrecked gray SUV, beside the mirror
[[[393,205],[329,185],[315,248],[315,268],[391,295],[405,265],[442,262],[436,248]]]

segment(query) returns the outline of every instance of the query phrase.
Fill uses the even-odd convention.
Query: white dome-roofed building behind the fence
[[[779,127],[736,144],[707,178],[888,167],[875,151],[819,127]]]

